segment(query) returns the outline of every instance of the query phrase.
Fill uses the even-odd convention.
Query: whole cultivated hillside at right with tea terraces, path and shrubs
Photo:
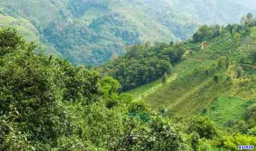
[[[128,93],[176,118],[206,115],[221,128],[241,120],[256,103],[255,29],[251,27],[248,35],[241,31],[238,43],[229,42],[230,33],[207,43],[185,43],[187,52],[165,85],[159,79]]]

